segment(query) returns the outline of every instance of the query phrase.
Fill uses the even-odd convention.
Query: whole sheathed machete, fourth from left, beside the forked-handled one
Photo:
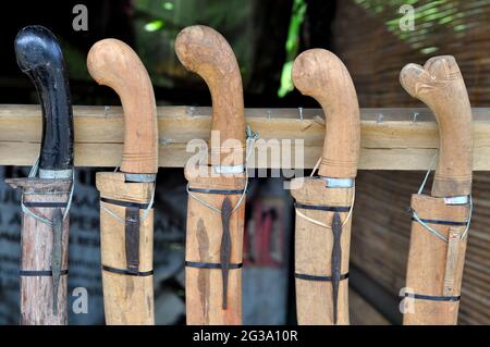
[[[292,181],[297,322],[348,324],[350,216],[360,138],[356,90],[344,64],[323,49],[296,58],[293,83],[321,104],[327,120],[319,176]]]

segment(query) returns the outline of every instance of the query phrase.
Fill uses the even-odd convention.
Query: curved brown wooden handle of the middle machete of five
[[[245,120],[242,76],[230,45],[217,30],[194,25],[179,33],[175,52],[187,70],[205,79],[211,92],[211,129],[220,132],[220,148],[211,148],[211,152],[243,152]],[[226,141],[229,139],[231,141]],[[237,158],[234,164],[242,161],[243,158]]]

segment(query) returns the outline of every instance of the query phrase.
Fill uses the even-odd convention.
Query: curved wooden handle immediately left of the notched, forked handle
[[[355,177],[360,144],[359,106],[347,69],[332,52],[310,49],[294,61],[293,83],[303,95],[315,98],[326,114],[319,175]]]

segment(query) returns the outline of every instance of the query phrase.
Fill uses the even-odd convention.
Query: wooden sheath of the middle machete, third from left
[[[185,175],[191,188],[200,189],[244,189],[245,176],[220,175],[218,178],[197,175],[196,170],[210,171],[200,166],[186,169]],[[218,195],[193,193],[199,199],[221,209],[228,197],[234,208],[238,195]],[[193,198],[187,202],[187,233],[185,240],[185,260],[205,263],[220,263],[222,223],[221,214],[212,211]],[[230,263],[243,262],[243,227],[245,202],[230,218],[231,256]],[[186,319],[189,325],[237,325],[242,324],[242,269],[231,269],[228,280],[228,308],[222,309],[222,274],[219,269],[185,269]]]

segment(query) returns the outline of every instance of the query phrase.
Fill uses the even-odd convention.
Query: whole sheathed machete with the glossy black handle
[[[42,111],[37,165],[22,189],[21,324],[66,324],[69,210],[73,187],[73,112],[66,67],[54,35],[27,26],[15,38],[19,66],[36,86]]]

